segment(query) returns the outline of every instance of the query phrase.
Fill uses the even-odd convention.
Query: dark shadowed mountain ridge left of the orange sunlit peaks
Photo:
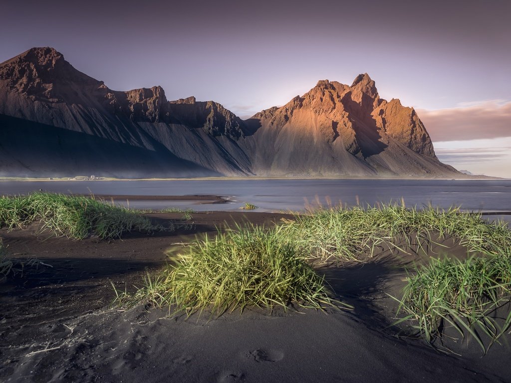
[[[190,112],[195,113],[192,125]],[[159,86],[114,91],[76,70],[51,48],[32,49],[0,64],[0,115],[41,124],[24,128],[27,146],[38,158],[35,161],[16,154],[25,153],[26,148],[16,140],[17,124],[4,119],[2,147],[10,150],[0,151],[0,160],[12,162],[14,157],[18,163],[5,169],[4,174],[10,170],[17,175],[45,175],[55,161],[62,162],[63,175],[93,172],[169,177],[250,173],[246,155],[231,138],[243,134],[243,122],[219,104],[171,104]],[[33,139],[42,130],[48,139],[58,140],[48,127],[81,133],[87,139],[74,135],[77,141],[71,146],[80,143],[79,152],[68,150],[71,146],[56,149],[47,140]],[[118,145],[102,147],[92,137]],[[104,155],[98,157],[98,151]],[[131,151],[151,155],[143,155],[144,163],[138,163]],[[124,169],[123,158],[132,159]],[[120,163],[112,166],[111,161]],[[75,169],[73,163],[82,165]]]

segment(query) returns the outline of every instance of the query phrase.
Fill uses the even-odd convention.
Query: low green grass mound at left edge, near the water
[[[159,229],[149,219],[128,209],[88,197],[34,193],[0,198],[0,228],[22,228],[39,220],[43,230],[77,239],[90,234],[115,238],[132,230],[151,232]]]

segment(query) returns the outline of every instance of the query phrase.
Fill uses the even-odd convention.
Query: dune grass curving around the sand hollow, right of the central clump
[[[452,327],[461,338],[473,336],[484,350],[480,334],[486,334],[490,339],[487,346],[491,346],[510,328],[508,309],[504,318],[492,317],[511,300],[511,231],[504,223],[488,223],[480,213],[455,207],[419,210],[402,203],[297,215],[284,223],[283,232],[320,262],[366,260],[383,243],[396,247],[393,241],[397,236],[416,234],[428,243],[433,236],[452,236],[467,248],[467,258],[432,258],[429,265],[413,270],[402,299],[398,299],[398,314],[405,317],[396,324],[414,321],[414,327],[430,343]]]

